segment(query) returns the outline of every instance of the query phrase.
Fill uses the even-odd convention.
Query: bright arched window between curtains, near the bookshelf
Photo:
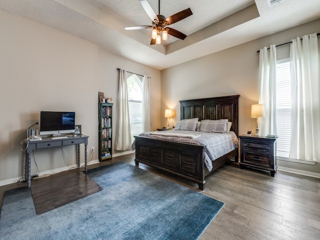
[[[142,132],[142,81],[133,74],[127,79],[131,142]]]

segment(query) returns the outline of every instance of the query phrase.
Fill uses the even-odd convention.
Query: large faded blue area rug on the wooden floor
[[[101,191],[40,215],[30,189],[6,191],[0,238],[197,239],[224,205],[125,162],[87,174]]]

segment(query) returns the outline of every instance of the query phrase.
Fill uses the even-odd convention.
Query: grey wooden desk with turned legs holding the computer
[[[77,147],[77,167],[80,167],[80,144],[84,143],[84,171],[87,170],[87,145],[89,136],[72,136],[60,139],[51,139],[50,137],[42,137],[42,140],[29,141],[28,147],[25,150],[25,180],[27,182],[27,187],[30,188],[31,185],[31,152],[35,149],[48,148],[54,146],[66,146],[74,145]]]

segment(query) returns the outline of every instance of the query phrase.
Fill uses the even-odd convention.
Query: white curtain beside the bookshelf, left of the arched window
[[[131,131],[129,118],[126,71],[119,70],[119,91],[117,99],[117,120],[114,139],[115,150],[131,149]]]

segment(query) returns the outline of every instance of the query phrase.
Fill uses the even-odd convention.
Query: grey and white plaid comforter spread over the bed
[[[163,132],[142,132],[140,136],[163,139],[191,144],[204,145],[204,163],[207,169],[212,169],[212,162],[216,158],[238,147],[238,137],[233,131],[228,133],[214,133],[186,130],[166,130]],[[134,147],[134,143],[132,145]]]

